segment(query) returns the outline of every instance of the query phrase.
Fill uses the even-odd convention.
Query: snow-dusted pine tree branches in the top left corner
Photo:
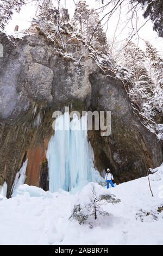
[[[14,11],[20,12],[24,0],[0,0],[0,28],[4,29]]]

